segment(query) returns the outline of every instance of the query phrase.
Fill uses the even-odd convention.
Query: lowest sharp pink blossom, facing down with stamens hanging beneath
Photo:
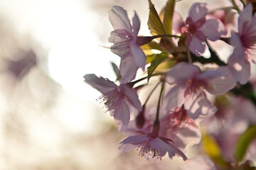
[[[187,157],[180,149],[174,147],[172,140],[169,140],[165,137],[159,137],[153,133],[134,135],[125,138],[119,142],[119,149],[122,149],[122,152],[127,152],[130,149],[140,149],[139,155],[145,157],[146,159],[161,159],[164,157],[166,152],[169,153],[169,157],[174,157],[175,154],[178,154],[186,161]]]

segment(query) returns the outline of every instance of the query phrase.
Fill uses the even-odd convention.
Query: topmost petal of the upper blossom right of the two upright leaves
[[[206,3],[194,3],[188,11],[188,17],[192,19],[195,23],[201,18],[206,17],[208,8],[206,8]]]

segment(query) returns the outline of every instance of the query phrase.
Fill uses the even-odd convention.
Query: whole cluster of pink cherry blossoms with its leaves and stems
[[[250,68],[256,63],[256,16],[249,1],[241,1],[243,8],[232,1],[233,6],[214,10],[196,2],[183,21],[172,2],[159,16],[149,0],[151,37],[138,36],[136,12],[131,24],[127,11],[113,6],[109,42],[120,57],[119,69],[115,68],[118,82],[95,74],[84,78],[102,93],[98,100],[114,117],[119,132],[128,135],[119,142],[122,152],[137,148],[146,159],[161,159],[168,152],[170,158],[176,155],[186,161],[186,146],[201,142],[199,123],[220,111],[218,96],[240,95],[255,103],[255,96],[241,91],[253,91],[245,84],[251,85]],[[225,17],[238,20],[237,28]],[[228,62],[210,47],[217,40],[233,47]],[[202,56],[206,50],[209,58]],[[138,69],[146,76],[138,75]]]

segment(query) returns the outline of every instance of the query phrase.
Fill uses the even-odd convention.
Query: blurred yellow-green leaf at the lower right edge
[[[256,125],[251,125],[242,135],[240,135],[238,139],[238,143],[235,148],[235,159],[237,159],[239,162],[242,161],[247,148],[255,137]]]

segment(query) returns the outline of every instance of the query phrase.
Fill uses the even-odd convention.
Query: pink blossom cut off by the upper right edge
[[[246,84],[250,78],[250,61],[256,63],[256,16],[252,4],[245,6],[238,17],[238,33],[231,33],[230,44],[235,47],[228,60],[235,79]]]

